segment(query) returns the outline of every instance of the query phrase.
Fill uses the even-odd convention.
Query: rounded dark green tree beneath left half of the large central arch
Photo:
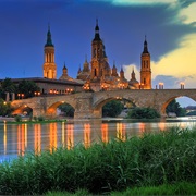
[[[113,118],[118,117],[122,112],[123,108],[124,106],[121,101],[111,100],[102,107],[102,115]]]

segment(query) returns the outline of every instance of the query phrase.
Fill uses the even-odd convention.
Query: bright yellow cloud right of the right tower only
[[[180,48],[163,56],[158,62],[151,62],[152,78],[158,75],[172,75],[183,79],[187,86],[195,86],[196,83],[196,34],[185,36]],[[176,85],[175,85],[176,86]]]

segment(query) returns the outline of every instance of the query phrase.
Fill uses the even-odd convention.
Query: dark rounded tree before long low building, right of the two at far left
[[[35,95],[36,91],[40,91],[40,88],[34,81],[21,81],[17,85],[17,94],[23,94],[24,98],[29,98]]]

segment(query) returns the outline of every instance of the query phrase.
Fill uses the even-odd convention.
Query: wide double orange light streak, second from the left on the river
[[[17,155],[24,156],[27,147],[27,124],[17,126]]]

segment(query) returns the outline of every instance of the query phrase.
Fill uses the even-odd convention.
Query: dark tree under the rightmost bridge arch
[[[186,110],[180,106],[179,102],[176,102],[175,99],[173,99],[166,108],[166,112],[173,112],[176,114],[176,117],[184,117],[186,115]]]

